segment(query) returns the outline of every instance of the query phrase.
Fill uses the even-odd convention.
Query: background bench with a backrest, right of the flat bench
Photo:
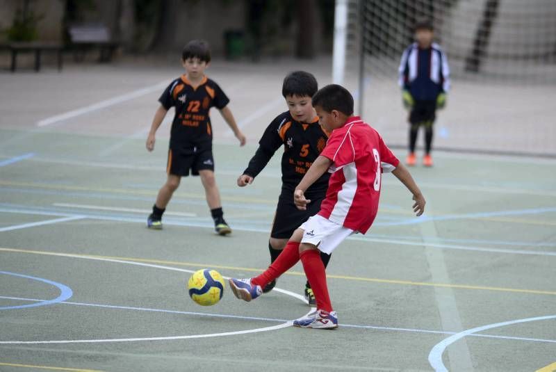
[[[119,42],[113,40],[108,27],[102,24],[70,26],[67,29],[70,34],[70,41],[74,47],[76,60],[83,60],[85,50],[88,47],[99,47],[101,62],[108,62],[112,59],[114,50],[120,46]]]

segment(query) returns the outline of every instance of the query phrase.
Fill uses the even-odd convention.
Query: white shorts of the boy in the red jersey
[[[309,217],[309,220],[306,220],[300,229],[304,230],[301,243],[316,245],[320,252],[326,254],[331,254],[347,236],[353,234],[352,229],[343,227],[318,214]]]

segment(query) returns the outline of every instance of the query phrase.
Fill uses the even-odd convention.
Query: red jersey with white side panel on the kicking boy
[[[334,163],[318,214],[365,234],[377,216],[382,172],[391,172],[400,161],[359,116],[334,129],[320,155]]]

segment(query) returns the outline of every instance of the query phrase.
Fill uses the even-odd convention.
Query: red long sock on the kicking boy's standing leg
[[[300,254],[300,259],[303,264],[303,270],[311,289],[315,294],[317,300],[317,309],[325,310],[325,312],[332,312],[332,303],[328,296],[328,287],[326,284],[326,271],[325,265],[322,264],[318,250],[304,250]]]

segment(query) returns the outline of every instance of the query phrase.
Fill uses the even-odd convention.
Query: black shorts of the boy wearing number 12
[[[214,171],[212,150],[198,153],[183,149],[170,149],[168,151],[167,174],[187,177],[190,170],[193,176],[198,176],[199,170]]]

